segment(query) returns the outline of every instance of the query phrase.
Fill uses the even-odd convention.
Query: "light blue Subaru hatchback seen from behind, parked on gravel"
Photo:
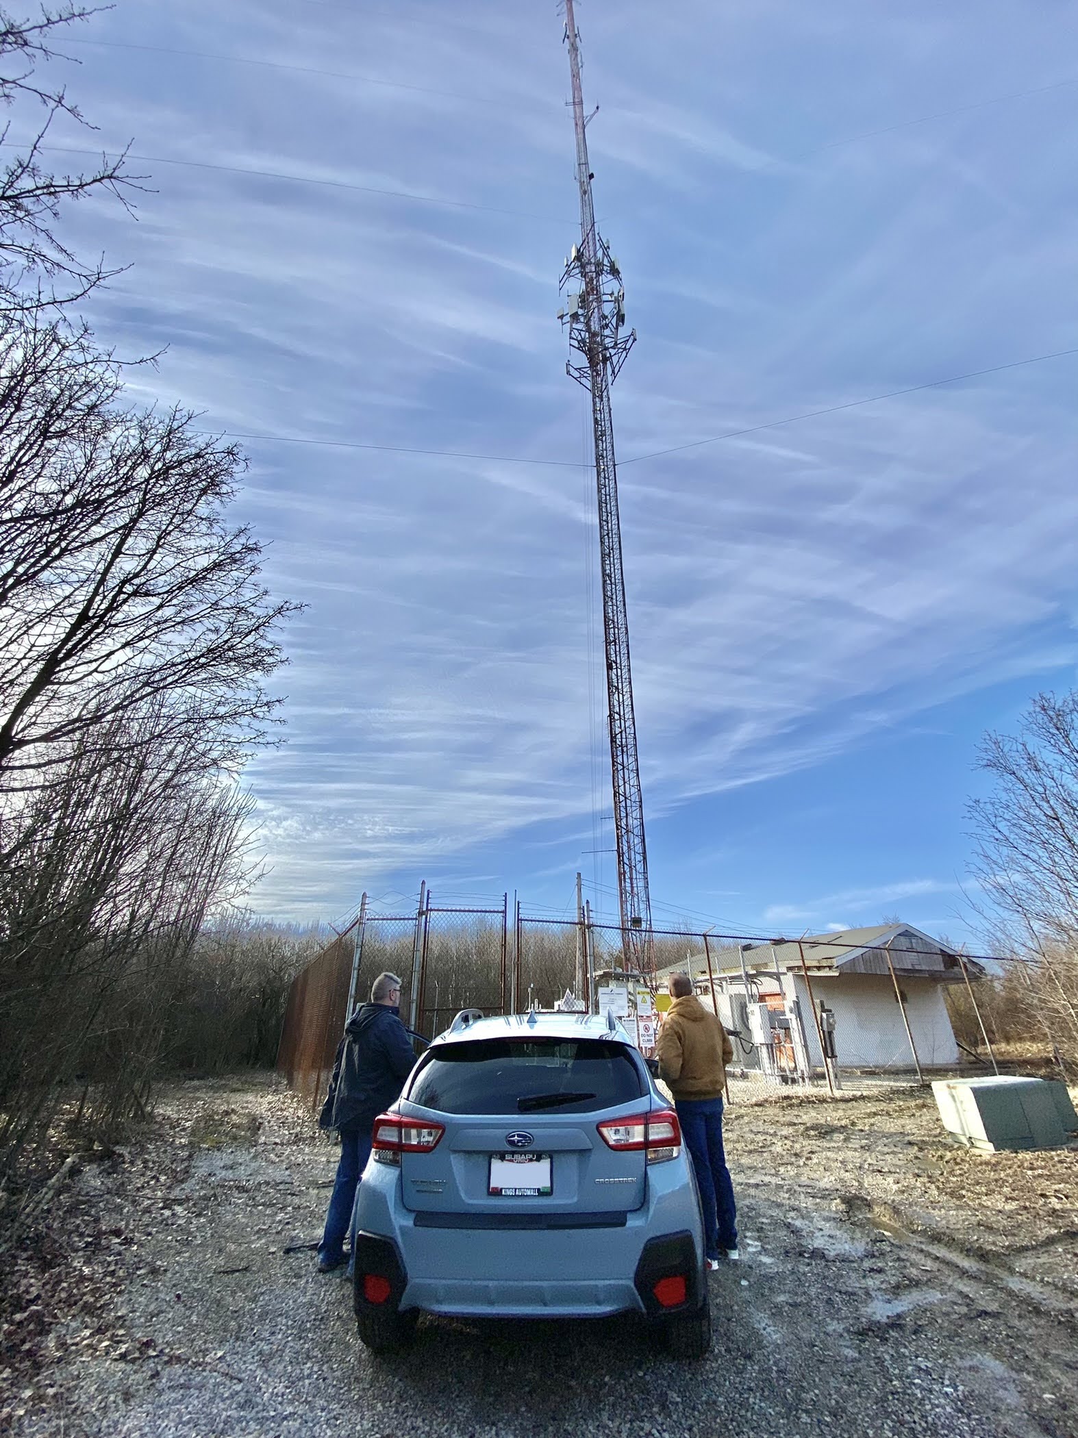
[[[459,1014],[374,1126],[355,1314],[375,1352],[421,1311],[638,1313],[677,1357],[711,1340],[677,1116],[609,1018]]]

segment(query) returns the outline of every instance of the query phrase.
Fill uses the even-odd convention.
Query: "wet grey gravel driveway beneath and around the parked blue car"
[[[184,1084],[145,1140],[57,1199],[39,1287],[20,1270],[9,1304],[0,1431],[1077,1438],[1065,1288],[874,1221],[871,1185],[851,1186],[854,1104],[768,1113],[730,1114],[746,1261],[711,1276],[704,1362],[670,1362],[630,1320],[434,1319],[379,1360],[346,1283],[283,1252],[318,1235],[336,1150],[276,1080]],[[835,1132],[803,1139],[824,1119]]]

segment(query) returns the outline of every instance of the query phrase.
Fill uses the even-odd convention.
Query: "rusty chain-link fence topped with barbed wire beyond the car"
[[[1000,989],[1015,982],[1008,961],[970,958],[908,926],[798,940],[655,929],[645,974],[625,971],[625,952],[621,929],[586,910],[536,917],[507,896],[499,907],[441,907],[424,886],[413,915],[364,905],[293,982],[277,1067],[318,1107],[346,1015],[384,971],[400,975],[401,1018],[424,1038],[463,1008],[591,1008],[612,1014],[645,1054],[668,1008],[668,976],[687,974],[730,1034],[732,1103],[1051,1063],[1051,1045],[1018,1054],[1000,1043]]]

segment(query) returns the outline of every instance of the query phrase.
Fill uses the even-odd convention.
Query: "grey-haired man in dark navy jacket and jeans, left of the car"
[[[400,1097],[415,1063],[400,1002],[401,981],[395,974],[379,974],[371,985],[371,1002],[352,1014],[336,1050],[333,1077],[318,1120],[319,1127],[341,1135],[341,1162],[318,1245],[319,1273],[332,1273],[345,1261],[345,1234],[359,1175],[371,1156],[374,1120]]]

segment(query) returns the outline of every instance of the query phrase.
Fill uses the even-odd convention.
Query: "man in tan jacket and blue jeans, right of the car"
[[[693,994],[687,974],[670,978],[673,1004],[655,1044],[658,1076],[674,1107],[693,1159],[704,1217],[704,1252],[710,1268],[737,1258],[737,1209],[723,1152],[723,1089],[733,1058],[730,1037]]]

